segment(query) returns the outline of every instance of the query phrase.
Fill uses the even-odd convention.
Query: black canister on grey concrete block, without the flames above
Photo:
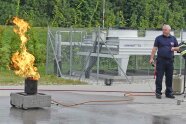
[[[24,92],[11,93],[10,104],[21,109],[51,106],[51,96],[37,92],[37,80],[25,79]]]

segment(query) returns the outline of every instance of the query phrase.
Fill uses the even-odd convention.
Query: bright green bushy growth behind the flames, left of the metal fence
[[[46,40],[47,28],[31,28],[28,33],[28,51],[36,58],[36,65],[45,63],[46,58]],[[19,50],[20,39],[18,35],[13,32],[11,26],[0,26],[0,65],[1,68],[7,69],[11,56],[14,52]]]

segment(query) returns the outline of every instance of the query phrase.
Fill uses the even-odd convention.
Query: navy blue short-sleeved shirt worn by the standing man
[[[154,42],[154,47],[158,48],[158,58],[172,59],[174,57],[174,52],[171,51],[172,47],[177,47],[178,42],[176,38],[172,35],[164,36],[160,35],[156,37]]]

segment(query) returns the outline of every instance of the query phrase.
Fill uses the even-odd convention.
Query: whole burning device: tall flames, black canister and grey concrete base
[[[40,75],[37,67],[34,66],[35,57],[26,47],[28,41],[26,32],[30,26],[18,17],[14,17],[13,23],[15,24],[14,32],[19,35],[21,44],[20,50],[12,55],[10,67],[16,75],[25,78],[25,88],[24,92],[10,94],[10,104],[22,109],[50,107],[51,96],[37,92]]]

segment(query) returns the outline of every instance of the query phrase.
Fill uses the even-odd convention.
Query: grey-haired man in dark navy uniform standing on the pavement
[[[154,55],[157,51],[156,58],[156,91],[155,95],[157,99],[161,99],[162,80],[165,73],[165,96],[167,98],[174,99],[172,91],[172,77],[173,77],[173,62],[174,51],[179,51],[178,42],[174,36],[170,34],[171,27],[169,25],[163,25],[163,34],[156,37],[154,47],[152,48],[149,63],[154,63]]]

